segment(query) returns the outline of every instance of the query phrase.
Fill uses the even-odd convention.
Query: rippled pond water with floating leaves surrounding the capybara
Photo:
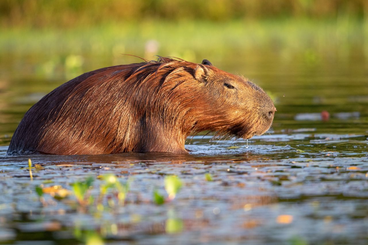
[[[11,72],[1,78],[0,241],[366,244],[367,64],[262,57],[216,62],[251,78],[275,101],[273,127],[249,145],[198,135],[187,140],[187,156],[35,155],[33,181],[28,156],[6,156],[7,146],[25,111],[66,78]],[[114,189],[101,196],[100,176],[106,174],[130,181],[123,203]],[[177,175],[183,186],[172,201],[157,205],[153,192],[167,198],[168,175]],[[71,184],[89,176],[95,200],[83,207]],[[36,187],[45,188],[41,200]],[[61,187],[69,191],[65,198],[50,191]],[[99,197],[103,207],[96,204]]]

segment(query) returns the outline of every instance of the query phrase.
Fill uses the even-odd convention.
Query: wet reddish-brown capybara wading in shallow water
[[[261,135],[275,111],[259,86],[208,60],[159,57],[87,72],[54,89],[25,113],[8,153],[188,153],[185,139],[200,131]]]

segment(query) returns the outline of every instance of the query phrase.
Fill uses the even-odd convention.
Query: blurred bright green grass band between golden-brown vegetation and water
[[[356,54],[356,49],[362,50],[360,55],[368,56],[364,38],[368,33],[367,22],[349,18],[220,23],[150,20],[66,30],[17,27],[0,31],[0,53],[14,58],[40,54],[42,65],[37,71],[46,75],[59,71],[60,67],[66,72],[79,72],[96,56],[101,58],[99,64],[134,60],[122,57],[123,53],[151,59],[155,54],[179,56],[190,61],[206,55],[212,60],[216,58],[217,63],[226,57],[234,59],[228,56],[239,52],[251,55],[271,52],[285,61],[298,58],[309,63],[330,57],[346,58]]]

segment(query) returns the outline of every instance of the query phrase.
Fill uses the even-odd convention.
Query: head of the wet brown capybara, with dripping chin
[[[208,60],[196,66],[194,77],[204,93],[198,99],[209,112],[201,123],[211,125],[210,130],[248,139],[270,128],[276,108],[259,86],[213,67]]]

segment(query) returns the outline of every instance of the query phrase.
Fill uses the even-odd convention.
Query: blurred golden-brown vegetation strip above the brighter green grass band
[[[167,21],[266,18],[334,18],[349,16],[367,18],[365,0],[3,0],[0,2],[0,24],[3,26],[32,26],[68,28],[91,26],[101,22],[131,20]],[[36,18],[35,18],[36,17]]]

